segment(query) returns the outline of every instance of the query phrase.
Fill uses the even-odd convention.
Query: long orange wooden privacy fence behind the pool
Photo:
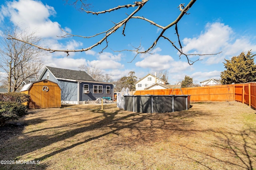
[[[138,90],[134,95],[190,95],[190,101],[238,101],[256,108],[256,82],[204,86],[192,88],[174,88],[161,90]]]

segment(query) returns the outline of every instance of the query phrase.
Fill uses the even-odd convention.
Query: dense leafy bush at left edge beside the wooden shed
[[[18,119],[26,113],[26,106],[22,103],[28,102],[29,96],[22,93],[6,93],[0,95],[0,127],[8,120]]]

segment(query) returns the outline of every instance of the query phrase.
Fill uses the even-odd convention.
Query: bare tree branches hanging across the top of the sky
[[[30,45],[34,45],[35,47],[38,47],[40,49],[44,49],[46,51],[50,51],[52,53],[55,52],[55,51],[62,51],[62,52],[67,53],[67,55],[69,55],[68,53],[70,53],[70,52],[88,51],[88,50],[90,50],[90,49],[92,49],[92,48],[94,48],[98,45],[104,44],[104,42],[105,42],[106,46],[103,47],[102,51],[101,51],[101,52],[103,52],[104,49],[106,49],[108,47],[108,40],[107,40],[108,37],[110,37],[110,35],[114,34],[118,29],[122,29],[122,35],[125,36],[125,30],[126,30],[126,25],[128,24],[128,21],[136,19],[136,20],[146,21],[147,23],[149,23],[150,25],[154,25],[155,27],[157,27],[161,31],[156,36],[155,40],[152,42],[152,45],[150,45],[149,47],[142,48],[142,45],[139,45],[139,47],[134,47],[134,49],[131,49],[131,50],[130,49],[122,50],[122,51],[134,51],[134,52],[136,52],[135,57],[138,54],[151,53],[151,51],[156,47],[158,41],[161,38],[166,39],[167,42],[170,43],[178,51],[178,53],[180,53],[179,57],[185,56],[189,64],[193,64],[194,62],[199,60],[198,59],[196,61],[191,61],[188,57],[189,55],[216,55],[216,54],[218,54],[218,53],[216,53],[216,54],[186,54],[182,50],[180,35],[178,33],[178,22],[182,19],[182,17],[184,17],[184,15],[189,14],[188,10],[190,8],[192,8],[192,6],[196,2],[196,0],[190,0],[190,2],[187,5],[185,5],[184,3],[183,4],[177,4],[177,6],[178,6],[177,10],[179,10],[180,13],[176,16],[176,19],[174,19],[173,21],[169,21],[169,22],[167,21],[166,26],[160,25],[159,23],[156,23],[156,22],[150,20],[149,18],[145,18],[144,16],[136,16],[136,14],[140,10],[142,10],[142,8],[144,8],[144,6],[146,6],[146,3],[148,3],[150,0],[140,0],[140,1],[133,2],[133,4],[117,5],[114,8],[110,8],[108,10],[103,10],[103,11],[99,11],[99,12],[90,11],[89,8],[88,8],[89,4],[86,3],[86,0],[65,0],[65,1],[66,1],[66,3],[74,5],[76,7],[80,6],[80,10],[86,12],[87,14],[100,15],[100,14],[106,14],[108,12],[113,12],[113,11],[116,11],[116,10],[118,10],[118,11],[123,10],[124,14],[126,14],[126,17],[124,17],[122,20],[120,20],[117,23],[113,22],[112,27],[110,27],[110,28],[108,28],[105,31],[102,31],[100,33],[96,33],[95,35],[89,35],[89,36],[75,35],[75,34],[68,33],[66,31],[64,31],[64,29],[62,29],[62,31],[64,31],[65,34],[61,37],[81,37],[81,38],[85,38],[85,39],[98,37],[98,41],[96,43],[90,45],[89,47],[85,47],[85,48],[82,48],[82,49],[60,50],[60,49],[43,48],[43,47],[39,47],[38,45],[35,45],[33,43],[29,43],[27,41],[18,39],[17,37],[14,37],[14,36],[11,36],[11,35],[10,35],[10,38],[29,43]],[[116,2],[120,3],[120,1],[116,1]],[[127,8],[129,8],[129,9],[132,8],[134,10],[132,10],[131,12],[130,12],[130,10],[126,11],[125,9],[127,9]],[[175,28],[175,33],[176,33],[176,36],[177,36],[177,39],[176,39],[177,42],[176,43],[174,41],[172,41],[170,38],[168,38],[166,35],[164,35],[166,30],[170,29],[171,27]],[[134,59],[135,59],[135,57],[134,57]]]

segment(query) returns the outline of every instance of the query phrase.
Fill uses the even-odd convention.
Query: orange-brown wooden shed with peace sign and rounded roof
[[[61,107],[61,90],[57,83],[50,80],[40,80],[23,86],[20,92],[28,94],[27,103],[32,108]]]

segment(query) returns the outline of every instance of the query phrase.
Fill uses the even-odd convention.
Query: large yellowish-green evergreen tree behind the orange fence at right
[[[256,65],[254,64],[255,55],[248,51],[247,55],[242,52],[238,56],[226,60],[224,66],[226,70],[220,73],[222,84],[246,83],[256,81]]]

